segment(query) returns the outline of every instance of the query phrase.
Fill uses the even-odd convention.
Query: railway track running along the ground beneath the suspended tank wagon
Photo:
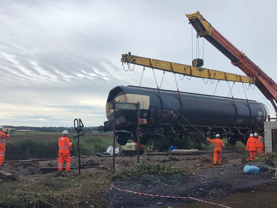
[[[183,152],[183,153],[174,153],[169,152],[169,153],[146,153],[143,155],[140,155],[140,157],[145,157],[145,156],[170,156],[170,155],[202,155],[202,154],[207,154],[207,153],[213,153],[214,151],[194,151],[194,152]],[[243,151],[231,151],[231,150],[226,150],[226,153],[243,153],[247,152],[245,150]],[[90,157],[113,157],[112,155],[109,156],[90,156]],[[136,157],[136,155],[115,155],[115,157]],[[77,157],[78,158],[78,157]],[[81,157],[81,158],[88,158],[88,157]],[[51,161],[51,160],[57,160],[57,158],[48,158],[48,159],[29,159],[29,160],[6,160],[4,163],[20,163],[20,161],[25,161],[25,162],[40,162],[40,161]]]

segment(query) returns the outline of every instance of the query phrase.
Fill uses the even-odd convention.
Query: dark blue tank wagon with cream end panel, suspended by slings
[[[160,96],[159,96],[160,93]],[[248,133],[263,131],[267,119],[264,105],[257,101],[232,99],[228,97],[194,94],[171,90],[159,90],[137,86],[113,88],[106,103],[108,121],[99,130],[113,129],[116,116],[117,142],[125,145],[129,139],[136,141],[137,115],[134,111],[110,109],[110,102],[141,103],[140,141],[147,143],[150,138],[159,138],[168,132],[196,136],[198,131],[211,135],[219,133],[229,143],[246,142]],[[248,105],[249,103],[249,105]],[[190,125],[190,123],[194,125]]]

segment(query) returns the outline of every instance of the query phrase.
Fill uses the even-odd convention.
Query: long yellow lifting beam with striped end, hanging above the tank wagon
[[[191,77],[207,78],[207,79],[217,79],[225,81],[235,81],[235,82],[245,82],[245,83],[255,83],[255,78],[246,77],[242,75],[236,75],[232,73],[190,66],[186,64],[178,64],[173,62],[161,61],[151,58],[145,58],[140,56],[131,55],[131,53],[122,54],[121,62],[136,64],[139,66],[145,66],[149,68],[155,68],[158,70],[174,72],[180,75],[188,75]]]

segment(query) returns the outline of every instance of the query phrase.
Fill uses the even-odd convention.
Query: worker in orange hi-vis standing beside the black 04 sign
[[[58,171],[63,169],[63,162],[65,161],[65,172],[70,170],[71,157],[69,153],[69,149],[72,144],[69,142],[69,138],[67,137],[68,131],[63,131],[63,136],[59,138],[59,166]]]

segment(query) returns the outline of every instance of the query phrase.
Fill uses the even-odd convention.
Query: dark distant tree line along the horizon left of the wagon
[[[74,127],[28,127],[28,126],[5,126],[4,128],[12,128],[12,129],[27,129],[32,131],[40,131],[40,132],[62,132],[64,130],[67,130],[69,132],[75,132]],[[91,131],[97,131],[98,127],[83,127],[82,132],[91,132]],[[5,129],[4,129],[5,130]]]

